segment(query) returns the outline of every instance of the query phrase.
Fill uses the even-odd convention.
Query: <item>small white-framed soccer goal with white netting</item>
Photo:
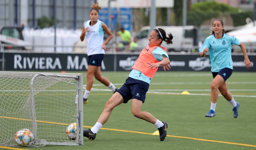
[[[0,71],[0,129],[0,146],[19,146],[20,129],[33,133],[31,147],[83,145],[83,74]]]

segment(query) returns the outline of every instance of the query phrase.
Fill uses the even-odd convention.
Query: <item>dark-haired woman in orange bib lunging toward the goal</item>
[[[153,79],[159,66],[163,66],[164,71],[171,67],[166,48],[161,47],[162,42],[172,44],[172,34],[168,37],[163,29],[154,29],[148,38],[148,46],[139,55],[139,58],[132,67],[132,71],[126,79],[124,85],[108,100],[105,108],[96,124],[89,130],[84,130],[84,136],[93,140],[103,124],[108,121],[112,110],[132,99],[132,114],[140,119],[154,124],[159,130],[160,141],[164,141],[168,124],[156,119],[152,114],[141,111],[142,103],[145,102],[149,83]]]

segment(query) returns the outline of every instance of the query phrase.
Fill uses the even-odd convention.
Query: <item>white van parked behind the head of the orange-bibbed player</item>
[[[198,45],[198,28],[196,26],[156,26],[156,28],[164,29],[166,35],[172,33],[173,44],[162,43],[167,51],[186,51],[189,47]],[[149,32],[151,32],[149,30],[150,26],[145,26],[138,32],[138,47],[144,48],[148,45]]]

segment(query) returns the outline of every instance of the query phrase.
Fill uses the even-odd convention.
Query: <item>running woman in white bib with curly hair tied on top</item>
[[[98,3],[92,3],[90,11],[90,19],[85,21],[82,28],[82,33],[80,36],[81,41],[84,41],[86,36],[87,42],[87,55],[88,55],[88,70],[87,70],[87,84],[86,90],[84,92],[84,104],[88,103],[88,97],[92,89],[93,75],[97,80],[106,85],[113,92],[116,92],[117,88],[106,78],[101,75],[101,62],[103,60],[106,44],[112,39],[113,34],[108,29],[107,25],[100,20],[99,10],[101,7]],[[104,31],[108,34],[108,38],[103,43]]]

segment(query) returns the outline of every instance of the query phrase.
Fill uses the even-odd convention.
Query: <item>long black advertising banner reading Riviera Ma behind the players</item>
[[[0,53],[0,56],[2,54]],[[131,71],[132,66],[138,59],[138,54],[105,54],[102,61],[102,71]],[[211,71],[211,62],[208,55],[169,55],[171,71]],[[88,69],[88,56],[86,54],[52,54],[52,53],[4,53],[4,70],[60,70],[60,71],[86,71]],[[251,55],[250,69],[244,66],[244,56],[234,55],[234,71],[256,72],[254,60]],[[159,67],[158,71],[163,71]]]

